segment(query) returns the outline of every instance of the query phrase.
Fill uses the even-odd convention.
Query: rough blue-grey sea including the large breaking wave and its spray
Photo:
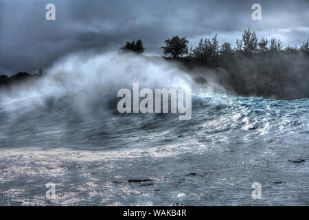
[[[1,206],[309,205],[308,99],[216,94],[136,57],[74,56],[49,71],[0,93]],[[132,83],[194,88],[192,118],[117,113]]]

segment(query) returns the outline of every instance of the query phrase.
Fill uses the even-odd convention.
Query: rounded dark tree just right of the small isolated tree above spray
[[[163,54],[166,56],[170,54],[172,58],[179,58],[179,56],[183,56],[184,54],[188,54],[187,47],[187,39],[185,36],[172,36],[172,38],[165,40],[165,47],[161,47],[163,50]]]

